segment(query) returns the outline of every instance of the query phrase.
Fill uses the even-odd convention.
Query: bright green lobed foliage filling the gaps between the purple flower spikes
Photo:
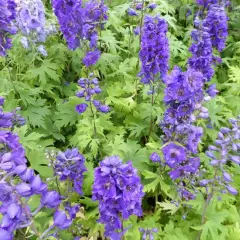
[[[172,69],[177,64],[185,68],[193,28],[193,14],[186,17],[186,13],[188,10],[194,12],[196,5],[193,0],[156,2],[158,7],[151,14],[160,14],[169,24],[170,67]],[[201,194],[187,204],[183,202],[178,207],[171,204],[176,198],[174,184],[166,171],[159,172],[157,165],[149,161],[150,154],[159,152],[162,146],[158,123],[165,110],[163,91],[152,108],[148,89],[136,77],[139,72],[139,38],[133,35],[133,28],[138,22],[126,13],[130,1],[108,0],[106,3],[109,20],[100,39],[103,54],[91,70],[100,80],[101,99],[111,106],[111,112],[97,116],[96,134],[90,110],[83,115],[75,111],[76,104],[81,101],[75,97],[76,82],[87,76],[81,63],[84,53],[81,49],[68,50],[60,32],[48,38],[46,58],[23,49],[20,35],[13,38],[8,58],[0,58],[0,93],[6,97],[5,110],[21,106],[22,115],[27,119],[27,124],[16,131],[26,148],[29,164],[42,177],[48,178],[52,171],[47,166],[46,150],[78,147],[86,157],[88,172],[85,174],[84,196],[76,195],[72,199],[82,205],[77,223],[81,224],[81,235],[86,239],[103,237],[104,230],[96,223],[98,205],[91,200],[94,167],[107,155],[119,155],[124,161],[132,160],[142,176],[146,192],[144,216],[141,219],[133,216],[126,222],[126,226],[132,224],[132,227],[125,239],[140,239],[139,227],[157,227],[159,232],[155,239],[191,240],[196,239],[198,231],[202,230],[202,240],[239,240],[239,196],[224,195],[221,201],[214,199],[204,225],[200,224],[204,204]],[[49,21],[57,23],[50,2],[45,1],[45,4]],[[209,165],[204,153],[206,146],[215,140],[220,126],[227,125],[229,118],[240,114],[240,1],[233,1],[228,10],[229,37],[221,56],[223,64],[216,67],[211,81],[216,83],[220,93],[206,104],[213,128],[207,128],[208,123],[204,121],[198,122],[204,128],[200,157],[206,168]],[[154,131],[148,138],[151,116]],[[239,171],[231,167],[231,173],[235,175],[235,187],[239,189]],[[33,201],[32,207],[34,204]],[[39,228],[48,224],[48,216],[48,212],[39,214]],[[75,226],[63,232],[62,239],[73,239],[72,233],[76,229]]]

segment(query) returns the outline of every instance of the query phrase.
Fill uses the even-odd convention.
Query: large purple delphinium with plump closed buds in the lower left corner
[[[59,229],[68,228],[74,216],[68,219],[66,213],[60,210],[62,197],[54,190],[48,188],[41,177],[27,166],[25,150],[19,142],[18,135],[13,133],[15,126],[24,125],[24,119],[13,112],[4,112],[1,97],[1,164],[0,164],[0,188],[1,188],[1,239],[14,239],[16,231],[28,228],[29,234],[34,234],[39,239],[48,239],[57,236]],[[40,197],[38,207],[33,210],[29,202],[35,196]],[[35,218],[40,210],[53,209],[54,221],[50,227],[39,232]],[[68,207],[67,211],[72,212]],[[71,215],[72,216],[72,215]],[[49,233],[52,231],[51,233]]]

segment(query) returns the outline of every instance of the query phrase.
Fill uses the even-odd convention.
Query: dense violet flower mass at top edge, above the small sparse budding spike
[[[88,43],[83,63],[87,67],[94,65],[100,57],[97,28],[102,28],[107,20],[104,0],[89,0],[85,5],[81,0],[53,0],[53,8],[68,47],[74,50],[81,41]]]

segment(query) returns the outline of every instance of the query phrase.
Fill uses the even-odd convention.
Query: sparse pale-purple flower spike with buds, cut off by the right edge
[[[238,119],[229,120],[231,127],[222,127],[215,141],[215,145],[210,145],[206,154],[212,160],[210,164],[215,169],[213,179],[203,179],[201,186],[213,185],[220,193],[236,195],[238,191],[230,183],[232,176],[227,172],[227,168],[232,164],[240,164],[240,116]],[[215,189],[216,191],[216,189]]]

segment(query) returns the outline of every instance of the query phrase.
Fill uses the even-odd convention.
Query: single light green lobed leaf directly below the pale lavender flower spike
[[[28,79],[38,79],[41,86],[45,86],[48,79],[59,82],[60,76],[57,73],[58,68],[59,66],[56,63],[51,62],[50,59],[45,59],[40,67],[28,70]]]

